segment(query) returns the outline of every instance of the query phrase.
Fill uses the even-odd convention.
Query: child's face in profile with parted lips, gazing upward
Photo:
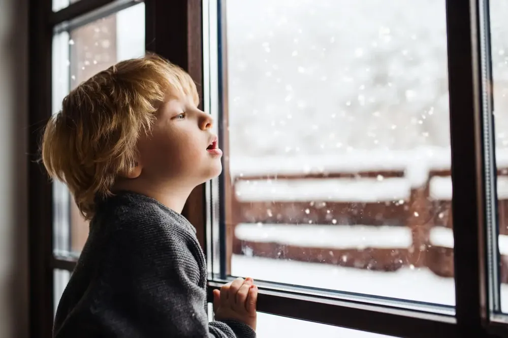
[[[141,175],[152,183],[171,181],[181,188],[217,177],[222,152],[211,132],[212,123],[191,97],[168,97],[150,136],[138,144]]]

